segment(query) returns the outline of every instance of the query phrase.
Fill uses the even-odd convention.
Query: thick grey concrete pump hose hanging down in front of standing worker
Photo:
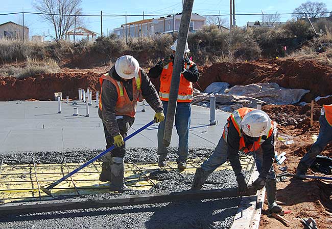
[[[176,46],[174,67],[172,72],[171,89],[167,108],[167,116],[165,120],[165,130],[163,135],[163,144],[168,147],[171,144],[176,104],[178,99],[178,91],[180,84],[180,75],[182,70],[182,60],[184,55],[184,47],[188,38],[189,23],[192,17],[194,0],[185,0],[181,15],[181,23],[179,28],[179,38]]]

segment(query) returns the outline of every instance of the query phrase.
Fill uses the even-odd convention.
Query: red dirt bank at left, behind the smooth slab
[[[0,101],[7,100],[53,100],[55,92],[62,92],[62,97],[76,99],[78,89],[100,90],[98,77],[100,74],[87,73],[55,73],[41,74],[25,79],[0,77]]]

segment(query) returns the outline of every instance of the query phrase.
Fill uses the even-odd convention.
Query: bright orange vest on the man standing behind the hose
[[[190,64],[188,64],[190,63]],[[184,68],[188,70],[195,63],[190,61],[184,64]],[[168,65],[163,67],[160,74],[160,90],[159,97],[162,101],[169,101],[170,90],[171,90],[171,81],[172,81],[172,72],[173,72],[173,63],[170,62]],[[180,76],[180,84],[178,91],[178,102],[191,102],[193,100],[193,83],[186,78],[183,74]]]

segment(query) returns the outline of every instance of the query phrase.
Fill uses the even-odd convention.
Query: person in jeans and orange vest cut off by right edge
[[[296,178],[305,179],[306,171],[314,163],[316,156],[324,150],[329,142],[332,142],[332,104],[323,105],[320,111],[319,124],[320,128],[317,141],[297,165]]]

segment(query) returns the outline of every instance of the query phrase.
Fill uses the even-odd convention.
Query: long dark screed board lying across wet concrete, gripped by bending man
[[[248,190],[248,195],[254,195],[253,190]],[[112,199],[81,199],[75,201],[58,200],[58,201],[42,201],[42,202],[26,202],[4,204],[0,206],[1,215],[9,214],[23,214],[23,213],[36,213],[36,212],[50,212],[50,211],[63,211],[73,209],[89,209],[101,207],[117,207],[128,205],[141,205],[141,204],[157,204],[175,201],[183,201],[185,199],[214,199],[214,198],[227,198],[238,197],[236,188],[214,189],[214,190],[200,190],[200,191],[182,191],[182,192],[168,192],[160,194],[143,194],[143,195],[127,195]],[[249,228],[249,227],[248,227]]]

